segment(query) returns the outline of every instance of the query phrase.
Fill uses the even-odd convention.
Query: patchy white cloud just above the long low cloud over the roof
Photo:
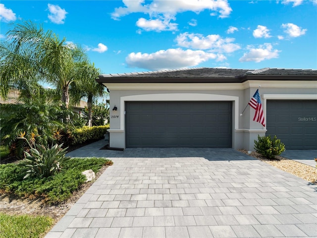
[[[189,34],[188,32],[179,34],[176,37],[178,46],[198,49],[209,50],[217,53],[232,53],[240,49],[238,44],[232,42],[234,38],[221,38],[219,35],[208,35],[204,37],[201,34]]]

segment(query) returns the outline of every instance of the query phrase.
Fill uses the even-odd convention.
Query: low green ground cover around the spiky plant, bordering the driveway
[[[0,165],[0,188],[20,197],[35,195],[45,198],[48,204],[57,204],[67,200],[85,182],[81,172],[92,169],[97,173],[104,165],[112,165],[112,162],[105,158],[72,158],[54,176],[27,179],[23,179],[22,168],[18,164]]]

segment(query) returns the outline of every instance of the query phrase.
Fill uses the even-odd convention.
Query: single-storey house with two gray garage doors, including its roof
[[[317,70],[192,68],[96,80],[110,92],[110,147],[254,150],[266,134],[286,149],[317,149]],[[247,106],[258,88],[265,126]]]

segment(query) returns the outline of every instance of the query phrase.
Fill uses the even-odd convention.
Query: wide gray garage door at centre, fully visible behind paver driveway
[[[231,147],[231,102],[127,102],[126,147]]]

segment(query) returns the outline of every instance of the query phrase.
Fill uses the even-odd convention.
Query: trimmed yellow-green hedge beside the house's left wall
[[[109,125],[84,126],[74,129],[70,132],[69,140],[71,145],[78,145],[85,142],[102,139],[106,134]]]

